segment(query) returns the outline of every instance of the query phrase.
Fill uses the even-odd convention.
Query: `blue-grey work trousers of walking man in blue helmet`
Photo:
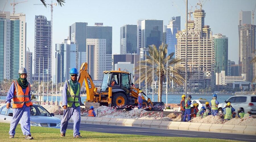
[[[81,122],[81,116],[80,116],[80,106],[75,106],[75,103],[73,103],[72,107],[67,107],[67,109],[64,109],[64,114],[61,119],[61,133],[66,133],[67,126],[69,123],[69,119],[72,117],[74,121],[73,126],[73,135],[74,137],[77,135],[80,135],[79,128],[80,128],[80,122]]]

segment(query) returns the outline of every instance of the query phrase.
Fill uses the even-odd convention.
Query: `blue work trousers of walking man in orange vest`
[[[21,121],[20,121],[21,119]],[[20,127],[23,135],[31,135],[30,133],[30,106],[22,108],[13,108],[13,119],[10,124],[10,135],[15,135],[15,129],[20,121]]]

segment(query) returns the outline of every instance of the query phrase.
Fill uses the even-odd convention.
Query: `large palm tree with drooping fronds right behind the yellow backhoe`
[[[166,58],[167,47],[168,47],[167,44],[160,45],[159,50],[161,51],[161,54],[159,55],[159,50],[156,48],[156,46],[155,45],[150,46],[148,50],[149,55],[147,55],[147,60],[141,61],[141,72],[143,72],[143,74],[141,74],[141,81],[146,81],[147,79],[147,85],[151,85],[152,70],[153,70],[152,65],[154,60],[155,76],[158,77],[158,80],[160,78],[160,87],[158,87],[160,89],[160,94],[158,94],[158,101],[160,102],[162,101],[163,81],[164,81],[164,78],[166,78],[166,65],[168,65],[168,68],[170,68],[171,72],[173,73],[173,77],[168,73],[168,78],[170,78],[170,80],[173,80],[175,83],[179,85],[182,85],[184,80],[177,71],[177,69],[179,68],[174,67],[174,65],[179,63],[181,59],[175,59],[173,57],[174,53],[170,53]],[[154,59],[153,59],[153,53],[154,53]],[[160,57],[160,61],[159,61],[159,57]],[[168,59],[168,62],[166,59]],[[147,67],[147,72],[146,72],[146,67]],[[136,66],[135,70],[139,72],[140,67]],[[159,70],[160,70],[160,77],[159,77]],[[147,74],[147,78],[146,78],[145,72]],[[169,72],[169,69],[168,69],[168,72]],[[137,84],[140,83],[139,78],[135,81],[135,83]],[[159,89],[158,89],[158,92],[159,92]]]

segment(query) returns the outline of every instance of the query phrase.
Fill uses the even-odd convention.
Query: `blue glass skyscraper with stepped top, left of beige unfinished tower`
[[[166,29],[166,44],[168,44],[168,53],[175,53],[177,44],[176,34],[180,31],[180,16],[172,17]],[[174,55],[175,57],[175,55]]]

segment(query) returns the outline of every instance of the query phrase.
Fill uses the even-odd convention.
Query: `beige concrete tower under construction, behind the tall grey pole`
[[[205,15],[203,9],[196,9],[193,12],[194,20],[188,22],[187,57],[185,54],[185,30],[178,31],[176,34],[176,58],[182,59],[181,65],[185,65],[187,58],[187,70],[193,72],[188,80],[188,87],[204,88],[214,85],[214,78],[212,78],[214,63],[212,32],[210,26],[204,24]]]

